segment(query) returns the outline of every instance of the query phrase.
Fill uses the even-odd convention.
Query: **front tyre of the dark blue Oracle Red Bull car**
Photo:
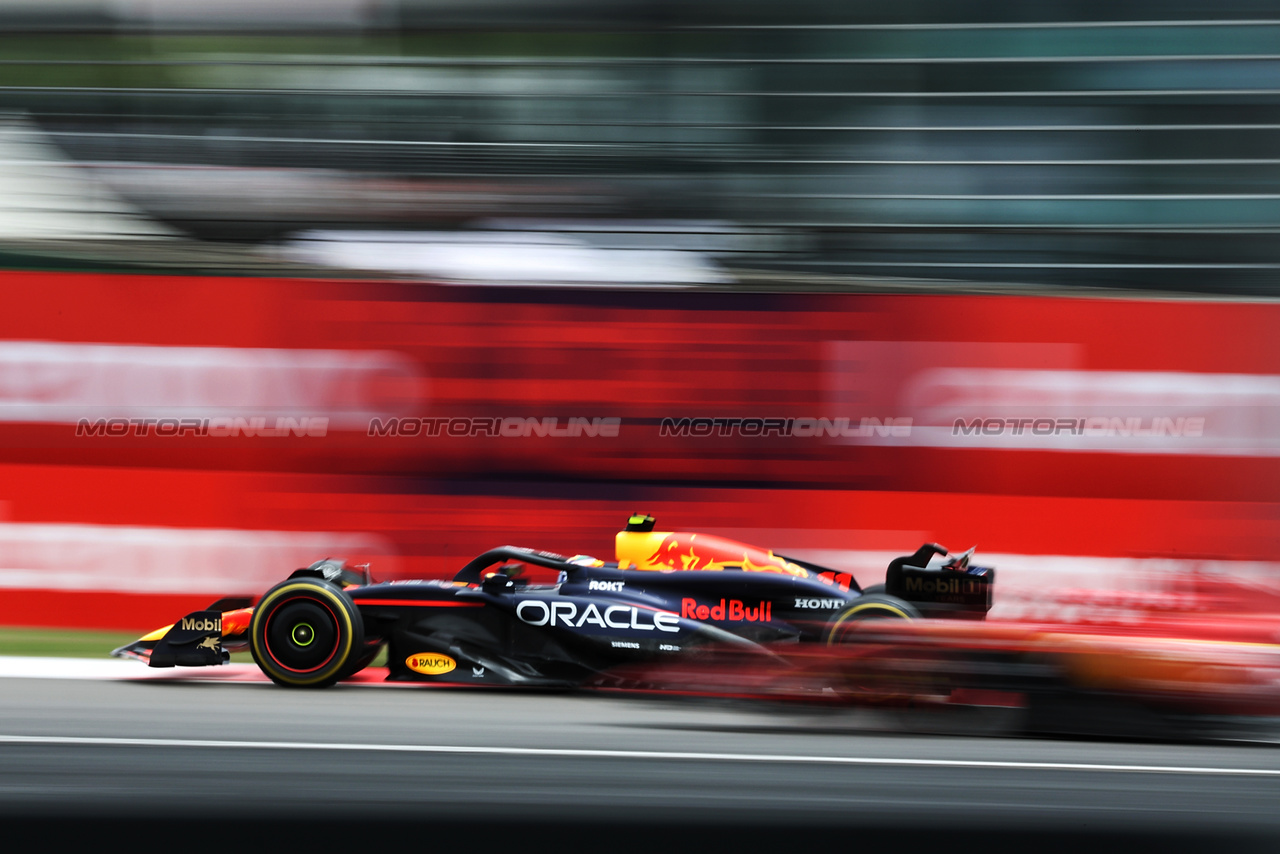
[[[365,653],[365,624],[340,588],[289,579],[266,592],[250,622],[253,661],[276,685],[328,688]]]

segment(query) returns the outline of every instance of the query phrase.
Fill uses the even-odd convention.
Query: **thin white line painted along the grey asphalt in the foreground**
[[[451,744],[352,744],[343,741],[221,741],[212,739],[124,739],[69,735],[0,735],[0,744],[56,744],[136,748],[220,748],[233,750],[337,750],[370,753],[481,754],[504,757],[561,757],[573,759],[685,759],[714,762],[771,762],[829,766],[895,766],[924,768],[1001,768],[1011,771],[1097,771],[1119,773],[1179,773],[1280,777],[1280,768],[1213,768],[1197,766],[1094,764],[1084,762],[1014,762],[991,759],[904,759],[874,757],[814,757],[772,753],[685,753],[677,750],[594,750],[577,748],[502,748]]]

